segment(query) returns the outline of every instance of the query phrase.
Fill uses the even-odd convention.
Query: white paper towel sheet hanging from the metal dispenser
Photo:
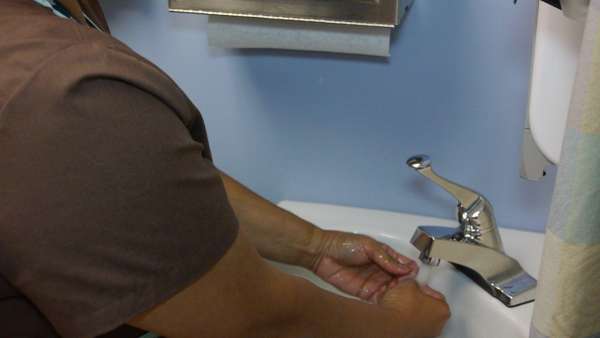
[[[390,55],[390,27],[216,15],[211,15],[208,22],[208,44],[212,47]]]

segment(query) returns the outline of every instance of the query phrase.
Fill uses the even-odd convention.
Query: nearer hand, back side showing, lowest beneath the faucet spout
[[[437,337],[450,318],[444,296],[428,286],[417,284],[412,278],[395,281],[375,297],[380,306],[396,312],[400,315],[399,320],[408,324],[408,337]]]

